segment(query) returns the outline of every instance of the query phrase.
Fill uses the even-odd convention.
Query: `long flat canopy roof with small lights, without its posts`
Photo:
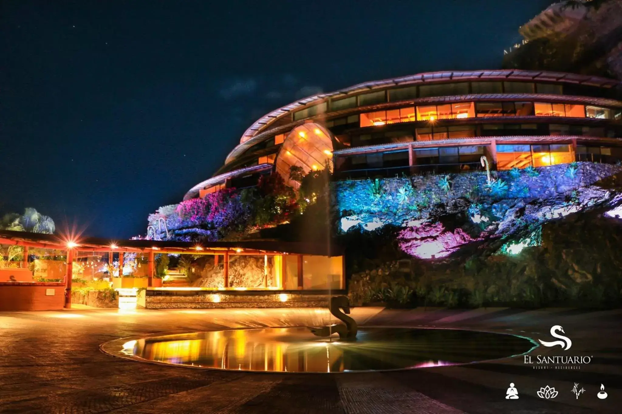
[[[313,254],[317,256],[342,256],[343,248],[336,245],[284,242],[277,240],[188,241],[162,240],[111,240],[85,237],[72,240],[67,236],[42,233],[0,230],[0,244],[29,246],[55,250],[75,248],[77,251],[116,251],[126,253],[187,253],[187,254]]]

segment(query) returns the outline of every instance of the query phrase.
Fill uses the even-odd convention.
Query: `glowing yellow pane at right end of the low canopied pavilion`
[[[342,289],[343,257],[302,256],[303,289]]]

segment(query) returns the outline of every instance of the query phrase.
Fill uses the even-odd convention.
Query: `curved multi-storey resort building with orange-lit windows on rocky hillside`
[[[420,73],[310,96],[256,120],[184,199],[292,166],[336,179],[622,160],[620,81],[524,70]]]

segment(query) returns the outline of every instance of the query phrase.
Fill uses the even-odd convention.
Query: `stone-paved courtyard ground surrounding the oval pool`
[[[567,352],[593,359],[580,370],[536,370],[517,357],[412,371],[262,374],[127,361],[99,346],[143,333],[320,325],[328,320],[326,310],[0,312],[0,413],[619,413],[621,315],[567,308],[354,308],[353,317],[369,326],[472,328],[550,340],[550,327],[562,325],[573,341]],[[510,382],[518,400],[505,399]],[[576,398],[573,382],[585,394]],[[606,400],[596,398],[600,384]],[[559,395],[537,397],[545,385]]]

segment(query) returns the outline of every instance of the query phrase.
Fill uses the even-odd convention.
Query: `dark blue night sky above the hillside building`
[[[0,1],[0,214],[128,238],[261,115],[318,91],[499,68],[552,2]]]

